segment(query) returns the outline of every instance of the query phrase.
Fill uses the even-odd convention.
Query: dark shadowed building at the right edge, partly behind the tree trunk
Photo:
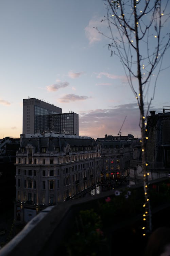
[[[168,109],[166,109],[168,108]],[[150,111],[146,126],[146,160],[149,180],[168,177],[170,174],[170,107],[163,107],[163,113]],[[141,147],[134,148],[134,159],[130,165],[130,185],[143,182]]]

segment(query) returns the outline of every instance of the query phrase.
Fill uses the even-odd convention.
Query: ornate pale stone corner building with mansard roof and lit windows
[[[21,134],[16,153],[15,220],[49,205],[100,193],[100,145],[90,137]]]

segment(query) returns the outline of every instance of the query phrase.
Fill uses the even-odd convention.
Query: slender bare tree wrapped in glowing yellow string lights
[[[163,57],[170,46],[170,33],[167,33],[169,13],[168,0],[104,0],[109,33],[108,48],[111,56],[120,58],[128,83],[136,97],[140,110],[141,151],[143,187],[145,193],[145,236],[152,230],[151,207],[148,193],[148,163],[146,159],[147,129],[146,117],[154,99],[156,82],[163,67]],[[170,10],[170,9],[169,9]],[[166,28],[167,26],[167,28]],[[149,99],[149,89],[152,95]],[[144,102],[145,106],[144,106]],[[147,230],[148,229],[148,230]]]

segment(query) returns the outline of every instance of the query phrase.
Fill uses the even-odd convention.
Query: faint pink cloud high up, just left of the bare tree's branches
[[[103,31],[103,28],[106,27],[106,24],[104,22],[101,23],[100,17],[94,17],[89,21],[89,24],[87,27],[85,27],[85,34],[87,39],[89,40],[89,44],[93,44],[95,42],[99,42],[102,40],[103,35],[99,34],[96,27],[102,28],[101,31]]]

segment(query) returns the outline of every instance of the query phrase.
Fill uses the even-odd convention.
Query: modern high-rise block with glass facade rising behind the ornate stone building
[[[45,131],[79,135],[79,115],[42,100],[23,99],[23,134],[35,134]]]

